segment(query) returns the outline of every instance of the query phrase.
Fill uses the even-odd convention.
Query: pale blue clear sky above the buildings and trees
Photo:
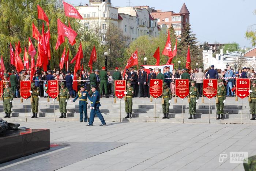
[[[73,5],[88,4],[89,0],[66,0]],[[129,5],[130,1],[130,5]],[[113,7],[143,6],[162,11],[180,12],[185,3],[190,12],[190,24],[197,41],[233,43],[252,47],[245,38],[249,26],[256,24],[256,0],[111,0]],[[249,27],[253,28],[253,27]],[[256,26],[253,28],[256,31]]]

